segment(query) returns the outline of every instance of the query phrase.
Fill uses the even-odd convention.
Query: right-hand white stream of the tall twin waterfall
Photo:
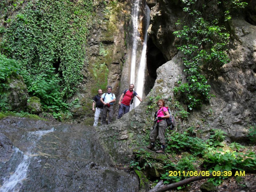
[[[146,15],[146,29],[149,27],[149,21],[150,21],[150,9],[149,6],[145,6],[145,15]],[[137,87],[136,87],[136,92],[138,95],[143,95],[143,87],[144,87],[144,78],[145,78],[145,66],[147,63],[146,59],[146,50],[147,50],[147,30],[145,30],[145,35],[144,35],[144,42],[143,42],[143,48],[142,48],[142,53],[141,53],[141,61],[139,63],[139,70],[138,70],[138,75],[137,75]],[[139,99],[135,99],[134,102],[134,107],[138,106],[140,103]]]

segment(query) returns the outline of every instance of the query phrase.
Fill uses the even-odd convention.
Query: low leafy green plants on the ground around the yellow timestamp
[[[225,132],[222,130],[214,130],[211,132],[210,138],[206,141],[197,137],[190,137],[189,133],[175,133],[170,131],[167,135],[167,153],[181,153],[189,151],[191,156],[184,157],[178,163],[171,163],[165,166],[166,174],[162,175],[162,179],[166,179],[165,183],[171,181],[180,181],[184,176],[169,177],[170,170],[189,171],[194,170],[192,162],[196,158],[201,158],[203,170],[212,171],[255,171],[256,170],[256,154],[254,152],[242,153],[237,152],[244,148],[239,143],[231,143],[229,147],[225,147],[222,143],[225,139]],[[183,167],[184,169],[181,169]],[[200,171],[200,170],[198,170]],[[227,177],[214,177],[210,181],[214,185],[221,183],[221,179]]]

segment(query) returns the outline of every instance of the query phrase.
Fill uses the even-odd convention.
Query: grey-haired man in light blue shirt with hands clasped
[[[113,109],[113,102],[115,102],[115,94],[111,93],[112,87],[107,86],[107,93],[104,93],[101,96],[101,102],[103,103],[103,115],[102,115],[102,124],[107,125],[106,118],[107,112],[109,113],[108,118],[108,125],[112,122],[114,109]]]

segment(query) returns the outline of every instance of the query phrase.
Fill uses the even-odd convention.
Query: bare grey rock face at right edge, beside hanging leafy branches
[[[235,36],[228,51],[231,61],[216,79],[210,79],[216,97],[202,111],[191,113],[189,124],[203,130],[223,129],[231,140],[241,141],[256,121],[256,27],[241,19],[230,24]]]

